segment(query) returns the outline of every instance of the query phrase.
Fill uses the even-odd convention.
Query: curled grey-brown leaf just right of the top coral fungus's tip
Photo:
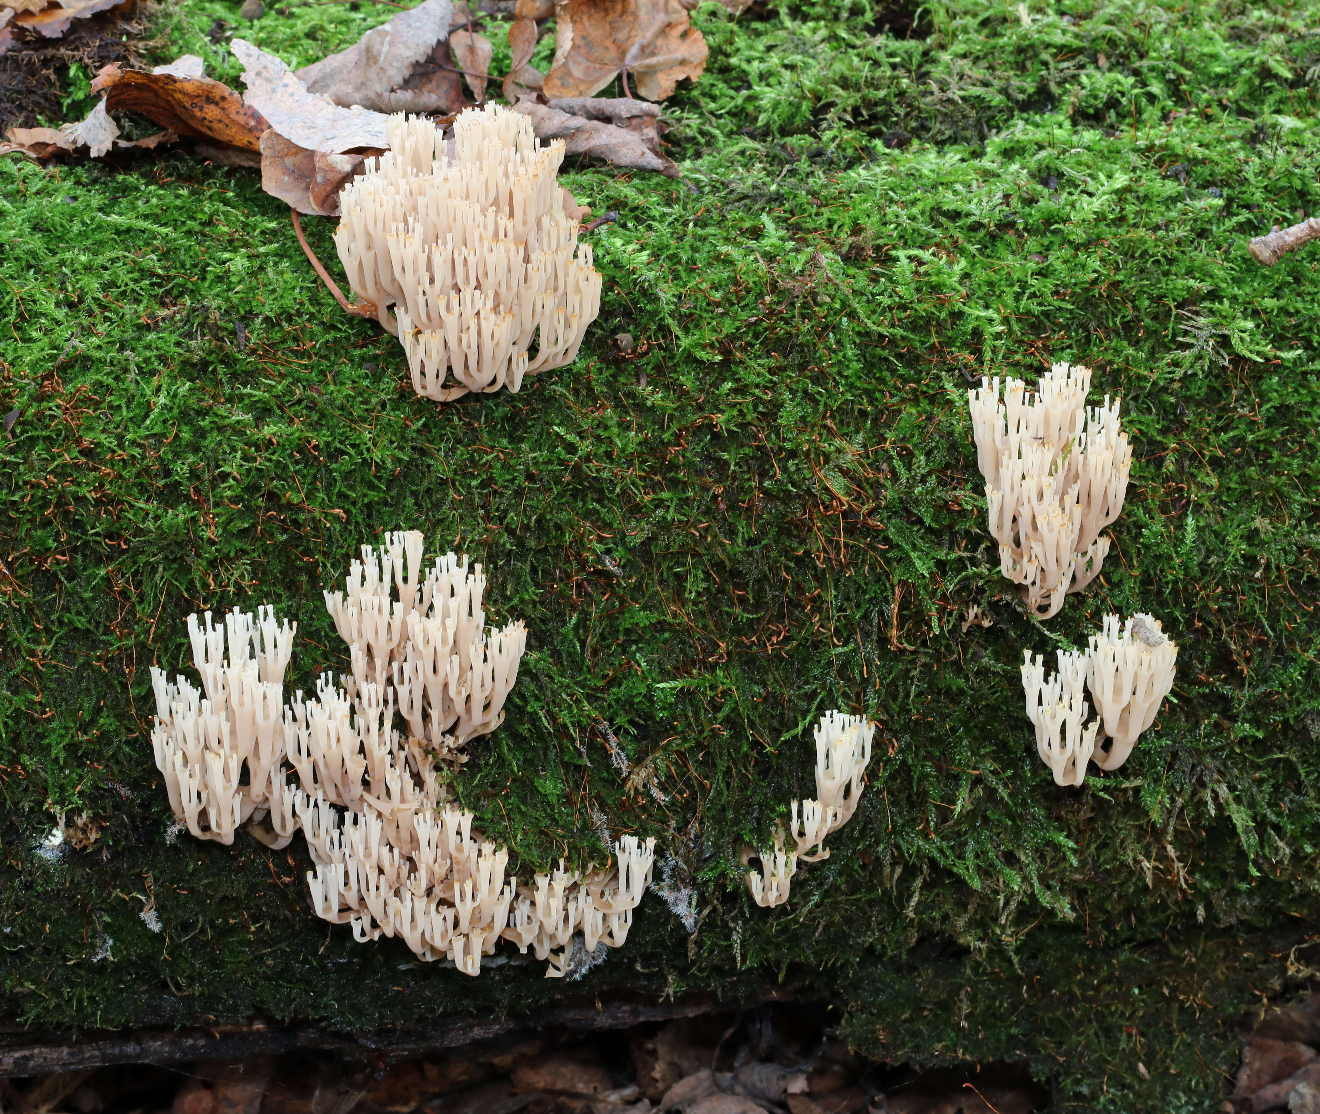
[[[620,110],[611,120],[609,106],[619,104],[636,107]],[[660,154],[660,137],[655,127],[660,115],[657,104],[623,98],[616,100],[581,98],[552,100],[549,104],[523,99],[513,106],[513,111],[531,117],[540,139],[564,140],[568,157],[595,158],[611,166],[653,170],[669,178],[678,177],[678,168]],[[578,111],[583,115],[577,115]],[[586,112],[595,119],[590,119]],[[631,124],[639,127],[634,129]]]

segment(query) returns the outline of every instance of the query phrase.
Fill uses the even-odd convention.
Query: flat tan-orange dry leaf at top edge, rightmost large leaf
[[[624,71],[638,96],[664,100],[709,54],[680,0],[562,0],[545,95],[594,96]]]

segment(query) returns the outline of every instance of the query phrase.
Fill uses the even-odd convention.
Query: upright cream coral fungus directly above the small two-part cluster
[[[1109,553],[1100,532],[1123,508],[1133,450],[1119,401],[1086,407],[1090,368],[1056,363],[1035,392],[1010,377],[968,391],[977,465],[986,480],[999,569],[1019,585],[1031,614],[1057,615]]]

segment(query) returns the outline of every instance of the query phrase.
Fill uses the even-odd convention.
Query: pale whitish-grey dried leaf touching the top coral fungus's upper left
[[[235,38],[230,49],[243,63],[243,81],[248,87],[243,99],[286,140],[330,154],[389,147],[385,114],[341,108],[329,98],[309,92],[284,62],[243,38]]]

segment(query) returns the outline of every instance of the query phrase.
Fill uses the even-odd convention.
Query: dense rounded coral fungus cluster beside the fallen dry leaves
[[[602,278],[564,213],[564,141],[541,147],[527,116],[498,104],[459,115],[449,143],[403,115],[388,139],[343,189],[334,240],[348,285],[403,343],[417,393],[516,392],[570,363]]]

